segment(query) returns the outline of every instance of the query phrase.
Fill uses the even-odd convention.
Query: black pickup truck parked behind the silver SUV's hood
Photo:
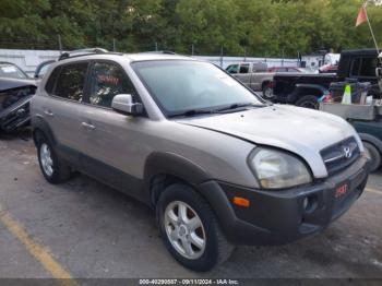
[[[319,109],[319,98],[329,94],[333,82],[346,79],[359,82],[370,82],[369,95],[381,97],[378,86],[375,68],[379,67],[375,49],[347,50],[341,53],[338,72],[333,74],[280,73],[275,74],[273,94],[275,103],[291,104],[307,108]]]

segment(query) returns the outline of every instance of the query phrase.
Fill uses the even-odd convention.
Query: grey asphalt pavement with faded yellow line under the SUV
[[[238,247],[200,274],[169,255],[147,206],[83,175],[51,186],[28,132],[2,134],[0,258],[0,278],[382,278],[382,171],[324,233],[282,247]]]

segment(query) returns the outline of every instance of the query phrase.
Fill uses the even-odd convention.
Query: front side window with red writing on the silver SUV
[[[110,62],[96,62],[91,75],[89,103],[111,107],[117,94],[135,95],[134,87],[123,70]]]

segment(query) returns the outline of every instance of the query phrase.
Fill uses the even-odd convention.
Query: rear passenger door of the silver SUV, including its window
[[[82,145],[79,116],[83,106],[87,69],[87,61],[56,68],[51,80],[47,82],[47,96],[41,110],[61,150],[75,159]]]

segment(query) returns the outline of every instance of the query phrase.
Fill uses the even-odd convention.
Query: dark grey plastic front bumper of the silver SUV
[[[323,230],[344,214],[363,192],[368,166],[368,159],[360,157],[346,170],[325,180],[283,191],[254,190],[216,181],[204,182],[200,189],[230,242],[284,245]],[[339,187],[344,188],[338,192]],[[249,200],[250,207],[234,205],[234,196]],[[309,198],[308,207],[303,205],[306,198]]]

